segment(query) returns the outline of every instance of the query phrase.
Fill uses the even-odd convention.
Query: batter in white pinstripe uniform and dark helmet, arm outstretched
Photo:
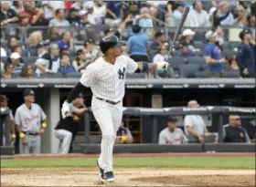
[[[122,46],[123,42],[117,36],[105,36],[101,40],[103,57],[99,57],[85,69],[79,83],[71,90],[61,109],[62,117],[66,118],[72,100],[82,89],[91,88],[91,109],[102,132],[101,155],[98,159],[101,182],[114,181],[112,150],[116,131],[123,118],[125,74],[156,70],[158,66],[146,62],[136,63],[132,58],[123,56]],[[166,63],[162,63],[160,68],[166,68]]]

